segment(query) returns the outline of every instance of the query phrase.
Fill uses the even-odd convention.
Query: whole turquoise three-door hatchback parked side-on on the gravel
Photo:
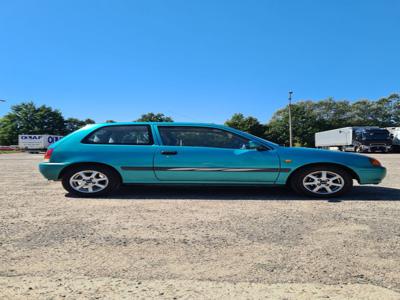
[[[195,123],[88,125],[51,145],[40,172],[71,194],[121,184],[287,185],[316,197],[378,184],[386,169],[360,154],[286,148],[239,130]]]

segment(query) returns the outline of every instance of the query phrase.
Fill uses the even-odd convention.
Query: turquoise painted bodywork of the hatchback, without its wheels
[[[111,128],[109,131],[118,128],[129,130],[130,126],[147,130],[146,143],[116,143],[112,138],[107,143],[87,142],[88,136],[95,135],[96,131],[105,128]],[[188,146],[174,135],[174,132],[182,130],[187,131],[187,139],[202,131],[215,132],[217,137],[224,132],[236,140],[243,140],[243,146],[235,148],[233,143],[229,148],[208,147],[206,142],[206,146],[198,146],[196,142]],[[171,136],[173,141],[170,141]],[[364,155],[281,147],[215,124],[94,124],[64,137],[49,149],[52,152],[49,161],[39,165],[40,172],[49,180],[62,180],[66,172],[82,165],[111,168],[118,174],[121,184],[285,185],[300,169],[321,165],[345,170],[360,184],[378,184],[386,174],[384,167],[379,163],[372,164],[371,158]]]

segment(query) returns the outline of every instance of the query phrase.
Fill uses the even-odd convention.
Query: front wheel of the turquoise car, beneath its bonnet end
[[[291,176],[290,187],[298,194],[334,198],[351,190],[353,178],[346,170],[339,167],[311,166],[296,171]]]

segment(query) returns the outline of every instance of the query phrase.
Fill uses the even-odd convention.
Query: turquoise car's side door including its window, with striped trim
[[[154,169],[161,181],[274,182],[274,149],[249,149],[250,140],[230,131],[200,126],[157,126],[161,145]]]

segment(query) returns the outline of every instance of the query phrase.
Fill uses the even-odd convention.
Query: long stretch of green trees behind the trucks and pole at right
[[[288,108],[278,110],[268,123],[267,138],[289,144]],[[400,96],[392,94],[378,101],[300,101],[292,104],[293,140],[311,147],[319,131],[347,126],[400,126]]]

